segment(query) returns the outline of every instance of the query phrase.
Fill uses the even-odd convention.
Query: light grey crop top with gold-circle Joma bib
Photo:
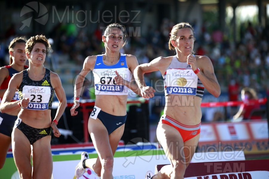
[[[187,62],[178,61],[173,56],[171,64],[163,76],[165,96],[169,94],[196,95],[203,98],[204,85]]]

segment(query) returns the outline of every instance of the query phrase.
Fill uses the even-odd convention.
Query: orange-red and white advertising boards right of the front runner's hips
[[[201,125],[197,152],[243,150],[248,154],[268,154],[267,121],[220,122]]]

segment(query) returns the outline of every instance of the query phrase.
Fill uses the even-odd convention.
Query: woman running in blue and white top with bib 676
[[[89,159],[87,152],[82,152],[75,168],[76,177],[81,177],[85,169],[90,168],[103,179],[113,179],[113,156],[124,131],[128,88],[139,93],[137,85],[130,82],[134,82],[131,79],[137,59],[120,53],[126,43],[125,27],[117,23],[108,25],[102,40],[106,53],[87,57],[75,81],[72,116],[77,115],[75,109],[79,107],[85,76],[93,71],[96,100],[88,120],[88,131],[98,154],[97,159]]]

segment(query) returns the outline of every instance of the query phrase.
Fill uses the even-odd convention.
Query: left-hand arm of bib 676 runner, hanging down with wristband
[[[93,70],[94,64],[96,61],[96,55],[89,56],[85,59],[83,68],[80,72],[80,74],[77,75],[77,78],[75,80],[75,87],[74,87],[74,97],[80,97],[83,82],[86,77],[86,75]],[[77,115],[77,111],[75,111],[80,106],[79,103],[74,103],[73,107],[70,109],[71,116]]]

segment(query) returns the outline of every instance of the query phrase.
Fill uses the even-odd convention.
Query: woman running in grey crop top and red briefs
[[[170,35],[169,49],[175,50],[176,55],[155,58],[139,65],[134,72],[144,98],[152,98],[155,90],[144,85],[143,74],[160,71],[163,75],[165,107],[156,133],[171,164],[163,166],[153,177],[149,172],[146,178],[152,179],[183,179],[200,136],[204,88],[215,97],[220,95],[210,59],[192,55],[192,26],[184,22],[176,24]]]

